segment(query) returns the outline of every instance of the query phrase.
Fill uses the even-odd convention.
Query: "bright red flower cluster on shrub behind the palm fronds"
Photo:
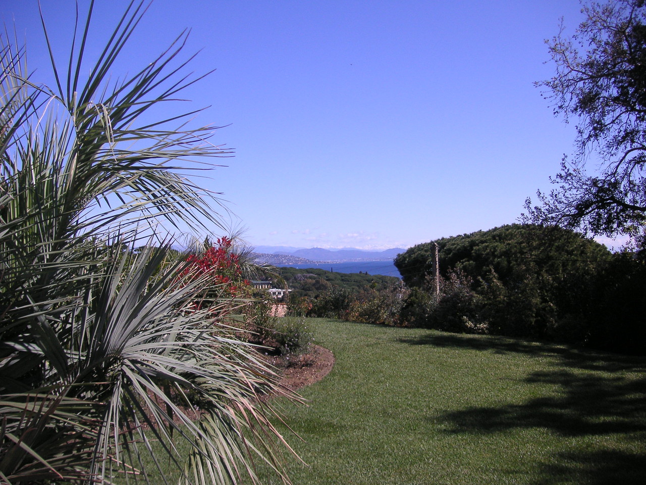
[[[191,254],[186,258],[189,265],[180,274],[207,274],[218,288],[219,296],[238,297],[247,292],[249,281],[242,277],[240,258],[232,251],[233,243],[228,237],[220,237],[201,255]]]

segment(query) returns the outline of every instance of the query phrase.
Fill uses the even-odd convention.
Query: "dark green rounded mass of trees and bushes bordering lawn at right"
[[[453,332],[556,339],[641,352],[646,270],[578,233],[513,224],[439,239],[441,292],[432,243],[395,260],[412,292],[402,320]]]

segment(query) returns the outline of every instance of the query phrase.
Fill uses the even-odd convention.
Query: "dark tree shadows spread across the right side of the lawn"
[[[437,416],[447,433],[486,434],[514,428],[550,429],[563,437],[626,435],[638,453],[618,450],[558,452],[545,464],[537,485],[563,481],[601,485],[642,484],[646,477],[646,359],[577,350],[563,345],[510,338],[428,334],[401,339],[429,345],[549,358],[546,370],[532,372],[526,383],[552,384],[558,395],[537,397],[523,404],[472,407]],[[578,370],[579,369],[579,370]],[[583,370],[583,372],[581,372]],[[590,372],[592,371],[592,372]],[[641,451],[641,453],[639,453]]]

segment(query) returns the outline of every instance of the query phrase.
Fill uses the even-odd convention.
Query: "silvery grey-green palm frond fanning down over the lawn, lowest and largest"
[[[185,461],[176,455],[178,439],[193,444],[193,460],[209,470],[207,476],[216,483],[235,482],[239,466],[253,473],[245,449],[279,469],[265,437],[282,438],[260,412],[258,398],[276,390],[290,393],[275,382],[255,349],[237,341],[235,329],[218,321],[217,306],[194,309],[192,298],[208,284],[206,278],[178,282],[178,272],[169,268],[151,285],[151,270],[163,257],[161,248],[140,252],[129,264],[126,255],[119,263],[115,258],[101,296],[92,299],[93,345],[78,373],[107,382],[98,391],[110,404],[97,455],[114,449],[117,463],[124,453],[150,453],[145,433],[149,429],[176,464],[183,466]],[[186,411],[196,402],[203,413],[199,421]],[[252,427],[262,432],[249,439]],[[122,430],[126,432],[120,434]]]

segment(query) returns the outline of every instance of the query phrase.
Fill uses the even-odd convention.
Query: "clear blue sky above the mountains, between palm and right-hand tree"
[[[90,55],[128,3],[97,0]],[[41,5],[62,54],[75,3]],[[154,0],[114,75],[191,29],[190,70],[215,70],[183,109],[208,107],[194,122],[222,126],[214,143],[235,151],[197,180],[222,193],[225,224],[252,246],[408,248],[517,222],[525,199],[550,189],[576,131],[534,81],[554,74],[545,39],[561,17],[574,32],[580,10],[578,0]],[[47,72],[37,0],[1,1],[0,19],[25,39],[30,69]]]

